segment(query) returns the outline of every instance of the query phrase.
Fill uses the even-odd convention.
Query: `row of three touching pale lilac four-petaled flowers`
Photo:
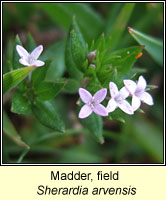
[[[85,105],[79,112],[79,118],[86,118],[92,112],[100,116],[108,116],[108,113],[113,112],[116,108],[120,108],[123,112],[133,115],[134,112],[141,106],[141,101],[153,105],[152,96],[146,92],[146,80],[140,76],[138,82],[132,80],[124,80],[124,87],[118,91],[118,87],[114,82],[109,83],[109,90],[111,98],[106,107],[101,102],[107,96],[107,89],[103,88],[97,91],[92,96],[87,90],[80,88],[79,95]],[[127,97],[132,96],[131,105],[126,100]]]

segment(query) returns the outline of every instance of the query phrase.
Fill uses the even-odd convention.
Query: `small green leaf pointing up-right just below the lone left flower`
[[[50,67],[51,61],[52,61],[52,59],[49,59],[49,60],[45,61],[45,65],[44,66],[37,67],[32,72],[31,80],[32,80],[32,84],[33,84],[34,87],[37,87],[38,85],[40,85],[40,83],[42,81],[45,80],[46,74],[47,74],[47,70]]]

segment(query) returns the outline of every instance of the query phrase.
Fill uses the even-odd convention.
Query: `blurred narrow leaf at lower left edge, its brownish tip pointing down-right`
[[[16,129],[14,128],[12,122],[10,121],[9,117],[7,116],[6,112],[3,111],[3,132],[11,138],[17,145],[25,147],[29,149],[30,147],[25,144],[22,140],[20,135],[17,133]]]

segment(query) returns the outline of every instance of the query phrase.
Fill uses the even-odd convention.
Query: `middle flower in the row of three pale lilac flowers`
[[[129,115],[134,114],[131,105],[125,100],[129,95],[128,92],[126,92],[126,89],[123,87],[120,91],[118,91],[116,84],[113,82],[109,83],[109,89],[111,99],[106,107],[107,111],[113,112],[117,107],[119,107],[123,112]]]

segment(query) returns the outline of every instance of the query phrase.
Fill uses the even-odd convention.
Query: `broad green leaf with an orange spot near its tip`
[[[106,55],[103,60],[101,69],[97,72],[97,77],[102,87],[108,88],[109,82],[115,82],[118,87],[122,87],[123,79],[133,78],[136,73],[144,72],[138,69],[132,69],[138,59],[138,55],[143,47],[135,46],[121,49]]]

